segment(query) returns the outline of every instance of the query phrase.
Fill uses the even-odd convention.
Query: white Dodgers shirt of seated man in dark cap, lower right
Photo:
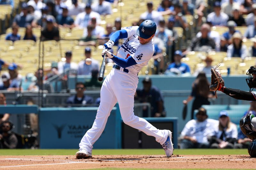
[[[193,119],[186,123],[181,132],[181,137],[189,136],[196,139],[198,143],[209,143],[207,137],[214,134],[214,128],[219,121],[214,119],[205,119],[204,122],[198,122]]]

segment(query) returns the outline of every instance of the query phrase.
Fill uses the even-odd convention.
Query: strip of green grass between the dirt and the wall
[[[77,149],[1,149],[0,155],[75,155]],[[164,155],[163,149],[93,149],[93,155]],[[247,149],[175,149],[174,155],[241,155]]]

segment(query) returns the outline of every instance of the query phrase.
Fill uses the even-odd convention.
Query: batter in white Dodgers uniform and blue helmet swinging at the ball
[[[96,119],[92,128],[85,133],[79,144],[80,149],[76,152],[77,159],[92,157],[93,144],[103,132],[108,116],[116,102],[119,103],[125,124],[155,137],[156,141],[164,148],[166,156],[172,156],[171,131],[156,129],[145,119],[135,116],[133,113],[134,94],[139,81],[138,72],[148,64],[154,53],[153,37],[155,33],[156,23],[146,20],[140,26],[130,26],[116,31],[104,44],[102,55],[106,54],[107,58],[111,58],[115,64],[103,82]],[[124,39],[124,43],[115,56],[108,50],[119,39]]]

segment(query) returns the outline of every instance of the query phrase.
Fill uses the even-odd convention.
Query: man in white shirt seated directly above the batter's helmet
[[[148,11],[142,13],[140,15],[140,18],[144,20],[150,19],[154,21],[156,25],[158,25],[159,21],[163,19],[162,14],[159,13],[158,11],[153,10],[153,2],[148,2],[147,8],[148,8]]]

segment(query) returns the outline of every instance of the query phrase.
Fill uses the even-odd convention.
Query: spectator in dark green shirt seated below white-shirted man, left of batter
[[[81,40],[79,41],[79,45],[80,46],[87,46],[87,45],[96,46],[97,37],[92,35],[93,26],[88,25],[86,31],[87,31],[87,35],[86,37],[81,38]]]

